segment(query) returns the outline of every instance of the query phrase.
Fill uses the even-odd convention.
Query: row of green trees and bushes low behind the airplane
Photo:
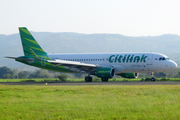
[[[68,78],[84,78],[86,74],[81,73],[60,73],[53,72],[43,69],[38,69],[36,71],[20,71],[18,69],[11,69],[6,66],[0,67],[0,79],[27,79],[27,78],[58,78],[60,75],[66,75]],[[159,72],[154,74],[157,78],[180,78],[180,68],[169,72]],[[149,77],[150,75],[140,74],[140,78]],[[116,76],[119,77],[119,76]]]

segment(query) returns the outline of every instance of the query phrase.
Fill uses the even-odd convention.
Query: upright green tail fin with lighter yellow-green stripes
[[[40,47],[40,45],[37,43],[37,41],[34,39],[34,37],[31,35],[27,28],[20,27],[19,33],[25,56],[33,56],[30,49],[32,49],[37,55],[47,55],[47,53]]]

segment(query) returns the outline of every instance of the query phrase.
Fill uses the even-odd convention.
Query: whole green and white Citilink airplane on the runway
[[[177,68],[166,55],[153,52],[48,54],[26,27],[19,27],[19,33],[24,56],[6,58],[51,71],[87,73],[86,82],[92,82],[91,75],[108,82],[115,75],[130,79],[138,78],[139,73],[151,73],[151,81],[155,81],[155,72]]]

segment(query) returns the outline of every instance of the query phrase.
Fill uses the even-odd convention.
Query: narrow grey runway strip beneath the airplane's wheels
[[[0,82],[3,85],[180,85],[180,81],[157,82]]]

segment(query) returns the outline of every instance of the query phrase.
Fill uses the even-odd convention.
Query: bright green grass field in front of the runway
[[[180,119],[180,85],[0,85],[0,119]]]

